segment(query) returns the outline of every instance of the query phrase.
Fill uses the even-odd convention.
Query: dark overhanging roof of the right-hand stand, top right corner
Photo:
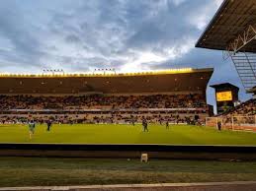
[[[225,50],[239,34],[256,25],[256,0],[224,0],[196,47]],[[239,51],[256,52],[256,40]]]

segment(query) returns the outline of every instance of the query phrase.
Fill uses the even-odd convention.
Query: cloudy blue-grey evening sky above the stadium
[[[221,52],[195,48],[222,0],[1,0],[0,70],[120,72],[213,67],[241,87]],[[213,103],[213,90],[208,90]],[[241,91],[242,99],[248,98]]]

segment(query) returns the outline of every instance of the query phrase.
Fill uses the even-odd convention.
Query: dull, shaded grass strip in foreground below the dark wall
[[[256,162],[0,158],[0,187],[236,180],[256,180]]]

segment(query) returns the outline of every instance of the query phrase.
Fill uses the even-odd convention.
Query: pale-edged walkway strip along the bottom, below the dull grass
[[[2,187],[0,191],[254,191],[256,181],[211,183],[119,184],[93,186]]]

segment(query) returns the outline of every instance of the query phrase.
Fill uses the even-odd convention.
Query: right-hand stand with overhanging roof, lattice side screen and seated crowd
[[[247,93],[256,87],[255,0],[224,0],[196,47],[221,50],[230,58]],[[222,122],[232,130],[256,131],[255,100],[251,99],[220,116],[207,118],[209,126]]]

